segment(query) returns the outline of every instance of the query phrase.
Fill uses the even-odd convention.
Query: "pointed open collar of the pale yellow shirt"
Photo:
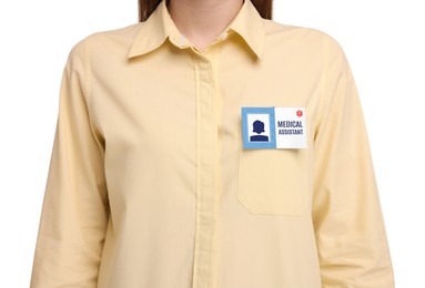
[[[181,49],[189,47],[188,40],[180,33],[171,19],[165,2],[162,0],[149,19],[140,24],[129,58],[149,53],[162,45],[166,39]],[[229,32],[236,32],[259,59],[263,55],[264,23],[251,0],[244,0],[237,16],[222,35],[225,38]]]

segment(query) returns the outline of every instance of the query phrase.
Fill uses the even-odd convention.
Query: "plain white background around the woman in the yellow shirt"
[[[0,3],[0,287],[29,286],[68,53],[88,34],[136,22],[136,9],[135,0]],[[344,48],[401,288],[425,287],[424,12],[421,0],[275,0],[274,9],[274,20]]]

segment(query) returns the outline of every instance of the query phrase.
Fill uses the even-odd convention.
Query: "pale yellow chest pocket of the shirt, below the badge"
[[[307,150],[240,152],[237,198],[249,212],[301,216],[307,197]]]

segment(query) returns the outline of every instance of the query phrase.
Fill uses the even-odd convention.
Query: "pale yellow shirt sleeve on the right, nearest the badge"
[[[314,137],[313,219],[324,288],[391,288],[393,269],[360,99],[327,39]]]

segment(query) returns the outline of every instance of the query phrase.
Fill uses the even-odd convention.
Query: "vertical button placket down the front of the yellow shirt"
[[[217,89],[213,52],[194,50],[196,75],[196,227],[193,288],[213,288],[219,196]]]

